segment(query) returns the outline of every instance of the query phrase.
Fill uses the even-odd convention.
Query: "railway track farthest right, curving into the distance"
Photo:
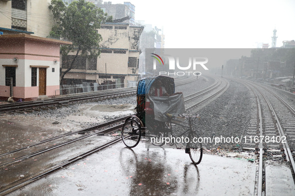
[[[261,85],[242,80],[238,82],[250,89],[256,98],[257,110],[251,111],[252,118],[243,149],[255,150],[259,155],[255,195],[262,196],[268,194],[267,161],[290,163],[294,181],[294,151],[290,149],[290,143],[293,143],[292,135],[295,134],[295,110],[285,100]],[[272,95],[272,98],[267,98],[267,93]],[[289,134],[292,137],[288,137]]]

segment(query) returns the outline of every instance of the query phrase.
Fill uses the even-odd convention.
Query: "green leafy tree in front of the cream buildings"
[[[89,58],[99,56],[102,37],[97,29],[102,22],[112,21],[112,16],[108,17],[102,9],[85,0],[73,1],[68,6],[62,0],[51,0],[49,8],[55,21],[49,36],[73,43],[60,46],[62,56],[75,52],[74,58],[67,64],[67,70],[61,75],[62,84],[65,74],[74,68],[78,55]]]

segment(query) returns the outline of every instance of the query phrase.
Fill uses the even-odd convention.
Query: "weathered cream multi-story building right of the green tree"
[[[71,69],[64,77],[66,84],[122,84],[137,81],[142,30],[143,26],[130,26],[128,23],[101,24],[98,29],[102,36],[100,56],[95,59],[78,58],[78,67]],[[62,68],[62,71],[66,70],[65,58]]]

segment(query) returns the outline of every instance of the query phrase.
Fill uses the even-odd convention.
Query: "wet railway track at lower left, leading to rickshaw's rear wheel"
[[[101,142],[97,135],[119,130],[125,119],[121,117],[0,154],[0,195],[11,193],[121,141],[118,137]],[[86,152],[77,149],[85,143],[89,146],[84,147]],[[97,147],[97,143],[102,144]],[[49,160],[46,157],[50,157]]]

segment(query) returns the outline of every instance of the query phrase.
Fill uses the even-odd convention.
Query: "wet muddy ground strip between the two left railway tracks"
[[[0,114],[0,154],[115,117],[130,115],[134,113],[135,105],[89,103],[75,107],[76,110],[63,107],[52,110],[52,113]]]

